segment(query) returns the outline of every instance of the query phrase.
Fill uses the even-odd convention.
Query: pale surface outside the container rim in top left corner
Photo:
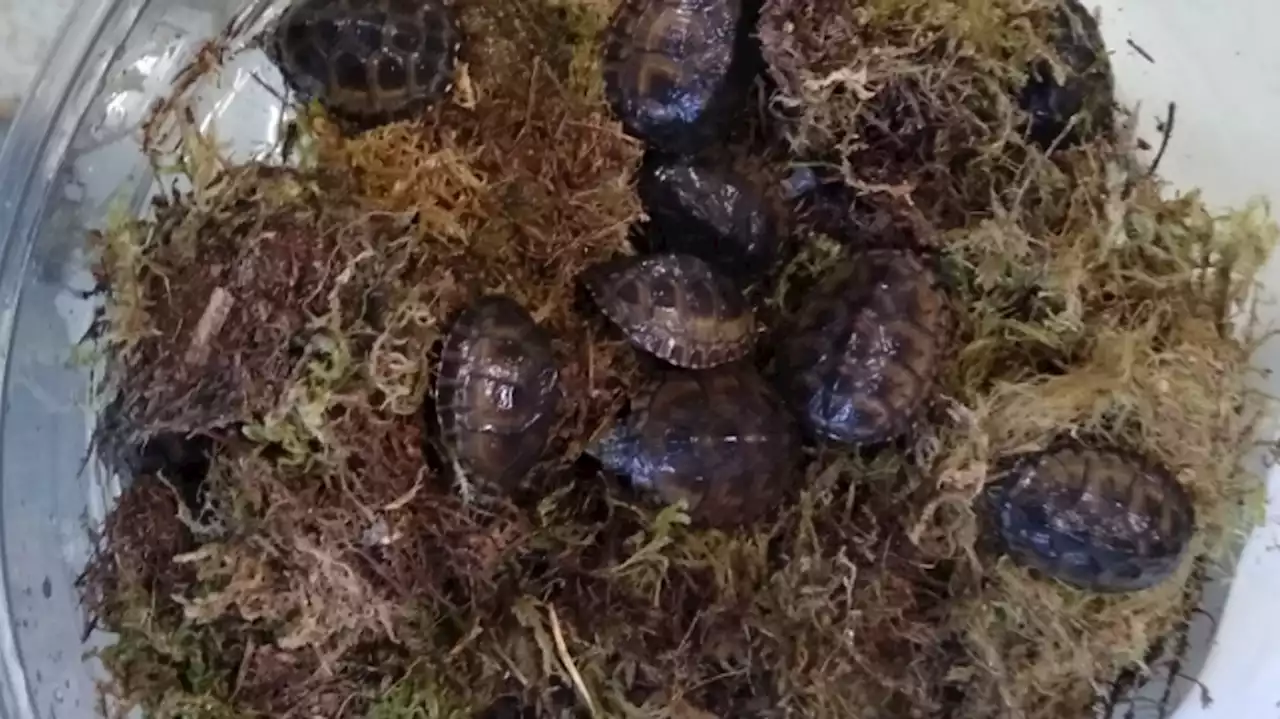
[[[76,0],[0,0],[0,123],[13,119]]]

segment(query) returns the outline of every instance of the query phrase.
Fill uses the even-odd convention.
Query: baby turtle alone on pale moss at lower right
[[[1074,443],[1006,467],[987,499],[1016,562],[1097,592],[1144,590],[1180,565],[1196,512],[1165,467]]]

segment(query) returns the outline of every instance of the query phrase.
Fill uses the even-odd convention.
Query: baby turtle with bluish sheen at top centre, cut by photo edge
[[[676,154],[713,142],[742,106],[742,0],[622,0],[604,37],[604,90],[627,134]]]

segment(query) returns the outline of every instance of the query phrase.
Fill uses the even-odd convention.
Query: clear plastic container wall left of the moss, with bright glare
[[[91,319],[81,248],[123,203],[145,209],[154,177],[140,124],[177,73],[233,18],[279,9],[238,0],[84,0],[0,155],[0,715],[93,716],[100,668],[74,582],[118,480],[86,463],[90,376],[70,365]],[[200,92],[233,156],[271,147],[279,77],[259,52]]]

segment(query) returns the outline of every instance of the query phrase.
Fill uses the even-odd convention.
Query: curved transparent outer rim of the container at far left
[[[84,0],[64,20],[52,52],[32,81],[0,148],[0,407],[5,406],[9,357],[27,264],[52,180],[108,68],[145,0]],[[0,436],[4,436],[0,412]],[[3,498],[0,498],[3,502]],[[5,557],[0,532],[0,560]],[[0,716],[36,716],[10,612],[8,563],[0,567]]]

